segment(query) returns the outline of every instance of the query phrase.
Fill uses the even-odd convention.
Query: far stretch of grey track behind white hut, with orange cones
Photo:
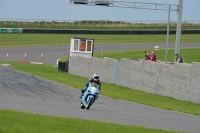
[[[101,49],[105,51],[114,50],[134,50],[134,49],[153,49],[155,45],[158,44],[110,44],[110,45],[95,45],[94,51],[100,52]],[[165,48],[165,44],[158,45],[160,48]],[[174,48],[174,44],[169,44],[169,48]],[[181,47],[200,47],[200,44],[183,44]],[[15,47],[15,48],[0,48],[0,60],[9,61],[29,61],[29,62],[42,62],[48,64],[56,64],[56,61],[60,57],[68,56],[70,51],[70,46],[29,46],[29,47]],[[27,59],[24,59],[26,53]],[[44,58],[41,59],[41,54],[43,53]],[[9,55],[9,59],[6,59],[6,55]],[[143,56],[143,53],[141,53]]]

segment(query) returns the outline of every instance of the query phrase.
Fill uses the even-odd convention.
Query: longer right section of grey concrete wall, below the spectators
[[[120,62],[120,85],[200,103],[200,63],[168,65],[127,59]]]

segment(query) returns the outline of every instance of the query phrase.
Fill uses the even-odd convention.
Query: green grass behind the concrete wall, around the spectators
[[[152,49],[153,50],[153,49]],[[103,52],[102,57],[109,57],[113,59],[120,60],[121,58],[129,58],[129,59],[143,59],[144,58],[144,51],[151,53],[151,49],[144,49],[144,50],[121,50],[121,51],[110,51],[110,52]],[[165,49],[160,49],[155,51],[157,60],[165,61]],[[200,48],[183,48],[180,49],[180,56],[183,58],[185,63],[192,63],[192,62],[200,62]],[[168,50],[168,61],[174,61],[174,49]],[[99,53],[95,53],[95,57],[99,57]]]

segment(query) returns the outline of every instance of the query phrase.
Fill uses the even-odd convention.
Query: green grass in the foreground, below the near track
[[[177,133],[100,121],[0,110],[1,133]]]

